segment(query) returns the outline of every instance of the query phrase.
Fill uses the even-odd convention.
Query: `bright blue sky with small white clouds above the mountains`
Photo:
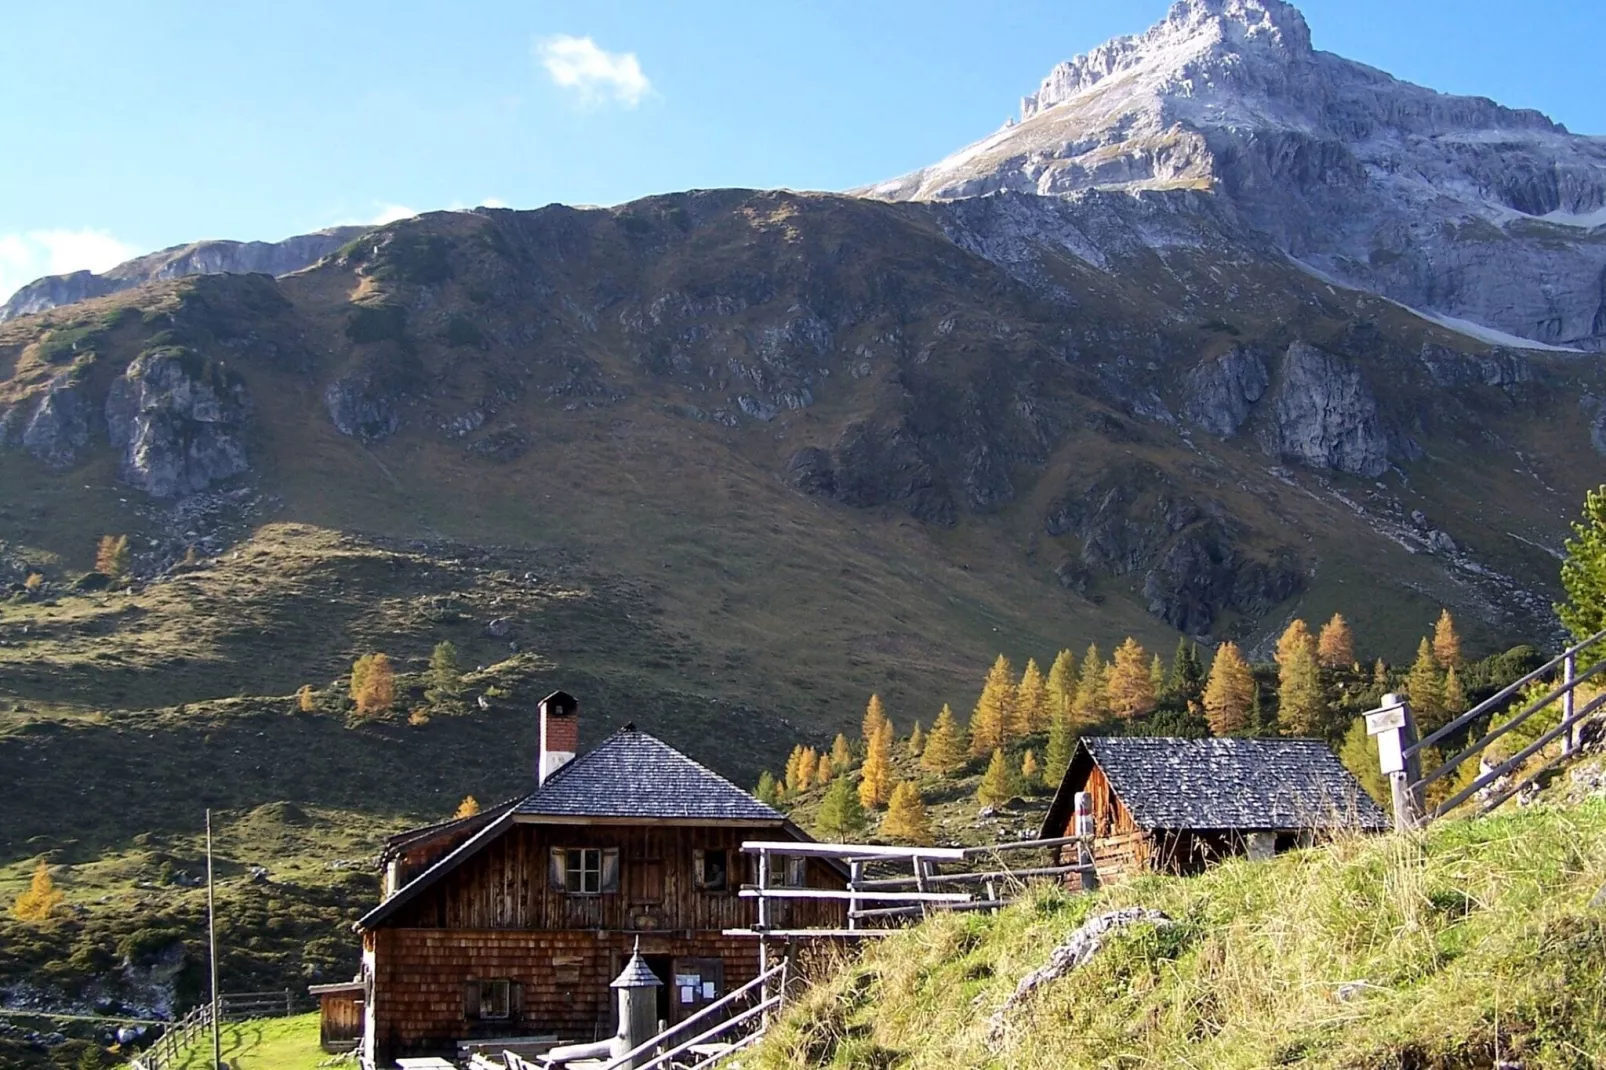
[[[0,296],[196,238],[842,190],[994,130],[1168,0],[0,6]],[[1606,133],[1598,0],[1306,0],[1319,48]],[[1585,42],[1579,45],[1579,42]]]

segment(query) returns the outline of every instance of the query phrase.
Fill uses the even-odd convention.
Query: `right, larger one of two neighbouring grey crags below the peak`
[[[1272,456],[1307,468],[1351,476],[1389,469],[1378,402],[1360,371],[1306,342],[1283,355],[1261,443]]]

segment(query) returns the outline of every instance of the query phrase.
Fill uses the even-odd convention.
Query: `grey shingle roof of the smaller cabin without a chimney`
[[[1320,739],[1089,736],[1090,755],[1143,829],[1386,829],[1392,821]],[[1078,762],[1071,762],[1076,768]],[[1044,835],[1074,805],[1070,776]],[[1055,829],[1050,832],[1049,829]]]

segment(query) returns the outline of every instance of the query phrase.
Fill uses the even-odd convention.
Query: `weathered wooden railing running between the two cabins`
[[[1084,792],[1086,794],[1086,792]],[[1078,835],[1060,835],[1046,840],[1015,840],[989,847],[891,847],[885,843],[800,843],[797,840],[750,840],[742,852],[758,856],[758,884],[742,885],[742,898],[758,900],[758,921],[752,929],[728,929],[726,935],[795,938],[795,937],[878,937],[893,929],[866,925],[867,921],[904,921],[930,911],[978,911],[999,909],[1015,901],[1015,893],[1026,880],[1041,877],[1068,877],[1076,874],[1084,888],[1097,887],[1097,869],[1092,856],[1092,832],[1084,815],[1086,802],[1078,797]],[[1002,855],[1028,850],[1057,850],[1076,845],[1074,863],[1010,868]],[[848,887],[797,888],[774,887],[774,860],[781,858],[832,858],[848,866]],[[983,869],[940,872],[940,866],[975,866],[976,861],[993,863]],[[909,876],[867,877],[869,863],[909,863]],[[962,890],[970,885],[972,890]],[[952,890],[949,890],[952,888]],[[825,900],[848,905],[846,929],[779,929],[771,925],[771,903],[777,900]],[[763,940],[760,948],[763,948]]]

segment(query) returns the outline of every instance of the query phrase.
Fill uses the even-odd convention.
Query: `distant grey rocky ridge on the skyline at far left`
[[[284,241],[196,241],[135,257],[103,275],[92,272],[47,275],[22,286],[0,305],[0,323],[167,278],[254,272],[289,275],[316,263],[366,230],[366,227],[331,227]]]

